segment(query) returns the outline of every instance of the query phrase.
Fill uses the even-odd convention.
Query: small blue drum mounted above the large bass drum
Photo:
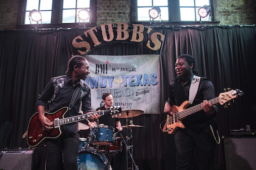
[[[90,144],[94,145],[110,145],[113,143],[114,128],[104,124],[100,124],[91,129]]]

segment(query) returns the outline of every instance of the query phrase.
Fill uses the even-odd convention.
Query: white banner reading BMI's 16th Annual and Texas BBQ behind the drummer
[[[92,109],[102,105],[102,94],[110,92],[114,106],[122,110],[142,110],[159,114],[159,55],[85,55],[91,73],[86,83],[91,87]]]

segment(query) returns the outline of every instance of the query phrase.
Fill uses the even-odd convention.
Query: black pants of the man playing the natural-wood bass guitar
[[[212,170],[216,141],[210,127],[199,133],[178,129],[174,136],[177,170]]]

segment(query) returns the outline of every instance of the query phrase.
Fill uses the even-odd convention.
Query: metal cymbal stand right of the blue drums
[[[129,135],[128,135],[128,115],[129,115],[129,112],[128,112],[128,110],[127,110],[127,112],[126,112],[126,114],[127,114],[127,118],[126,118],[126,132],[127,132],[127,136],[126,136],[126,140],[124,140],[124,136],[122,135],[122,133],[120,133],[121,134],[121,137],[122,137],[122,139],[123,139],[123,141],[124,141],[124,144],[125,144],[125,148],[126,148],[126,167],[127,167],[127,170],[129,169],[129,166],[128,166],[128,153],[129,153],[129,155],[130,155],[130,157],[131,157],[131,159],[132,159],[132,170],[133,170],[133,165],[134,165],[134,167],[135,167],[135,169],[136,170],[139,170],[139,168],[138,168],[138,166],[135,164],[135,161],[134,161],[134,159],[133,159],[133,156],[132,156],[132,154],[133,154],[133,149],[132,149],[132,153],[130,152],[130,149],[133,147],[133,145],[132,145],[132,129],[130,130],[130,132],[131,132],[131,137],[129,137]],[[130,122],[132,123],[132,120],[130,120]],[[131,145],[128,145],[128,140],[129,139],[131,139]],[[126,141],[126,142],[125,142]]]

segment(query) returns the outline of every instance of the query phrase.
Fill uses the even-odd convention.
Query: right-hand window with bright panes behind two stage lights
[[[160,16],[151,21],[200,21],[198,9],[204,5],[211,5],[211,0],[132,0],[132,21],[150,21],[149,10],[159,6]],[[201,18],[210,21],[209,15]]]

